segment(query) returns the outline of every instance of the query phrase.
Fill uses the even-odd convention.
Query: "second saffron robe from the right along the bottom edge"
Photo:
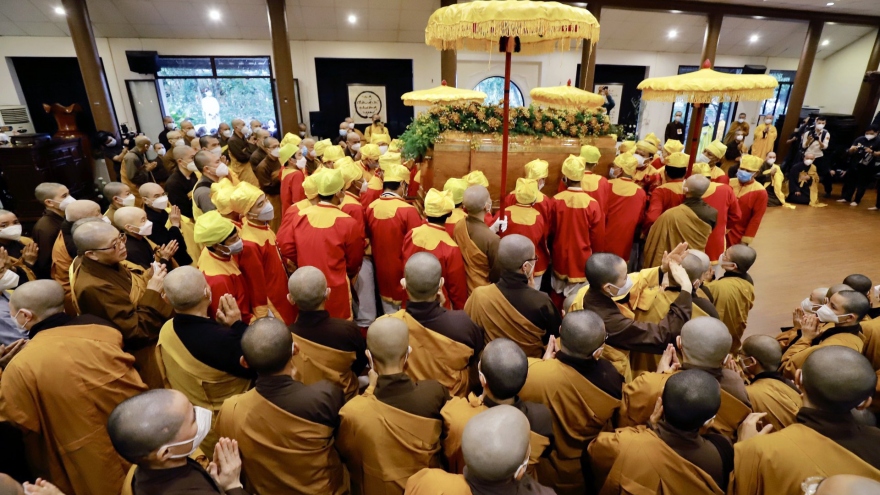
[[[724,495],[708,473],[678,455],[645,426],[600,433],[590,444],[600,495]]]

